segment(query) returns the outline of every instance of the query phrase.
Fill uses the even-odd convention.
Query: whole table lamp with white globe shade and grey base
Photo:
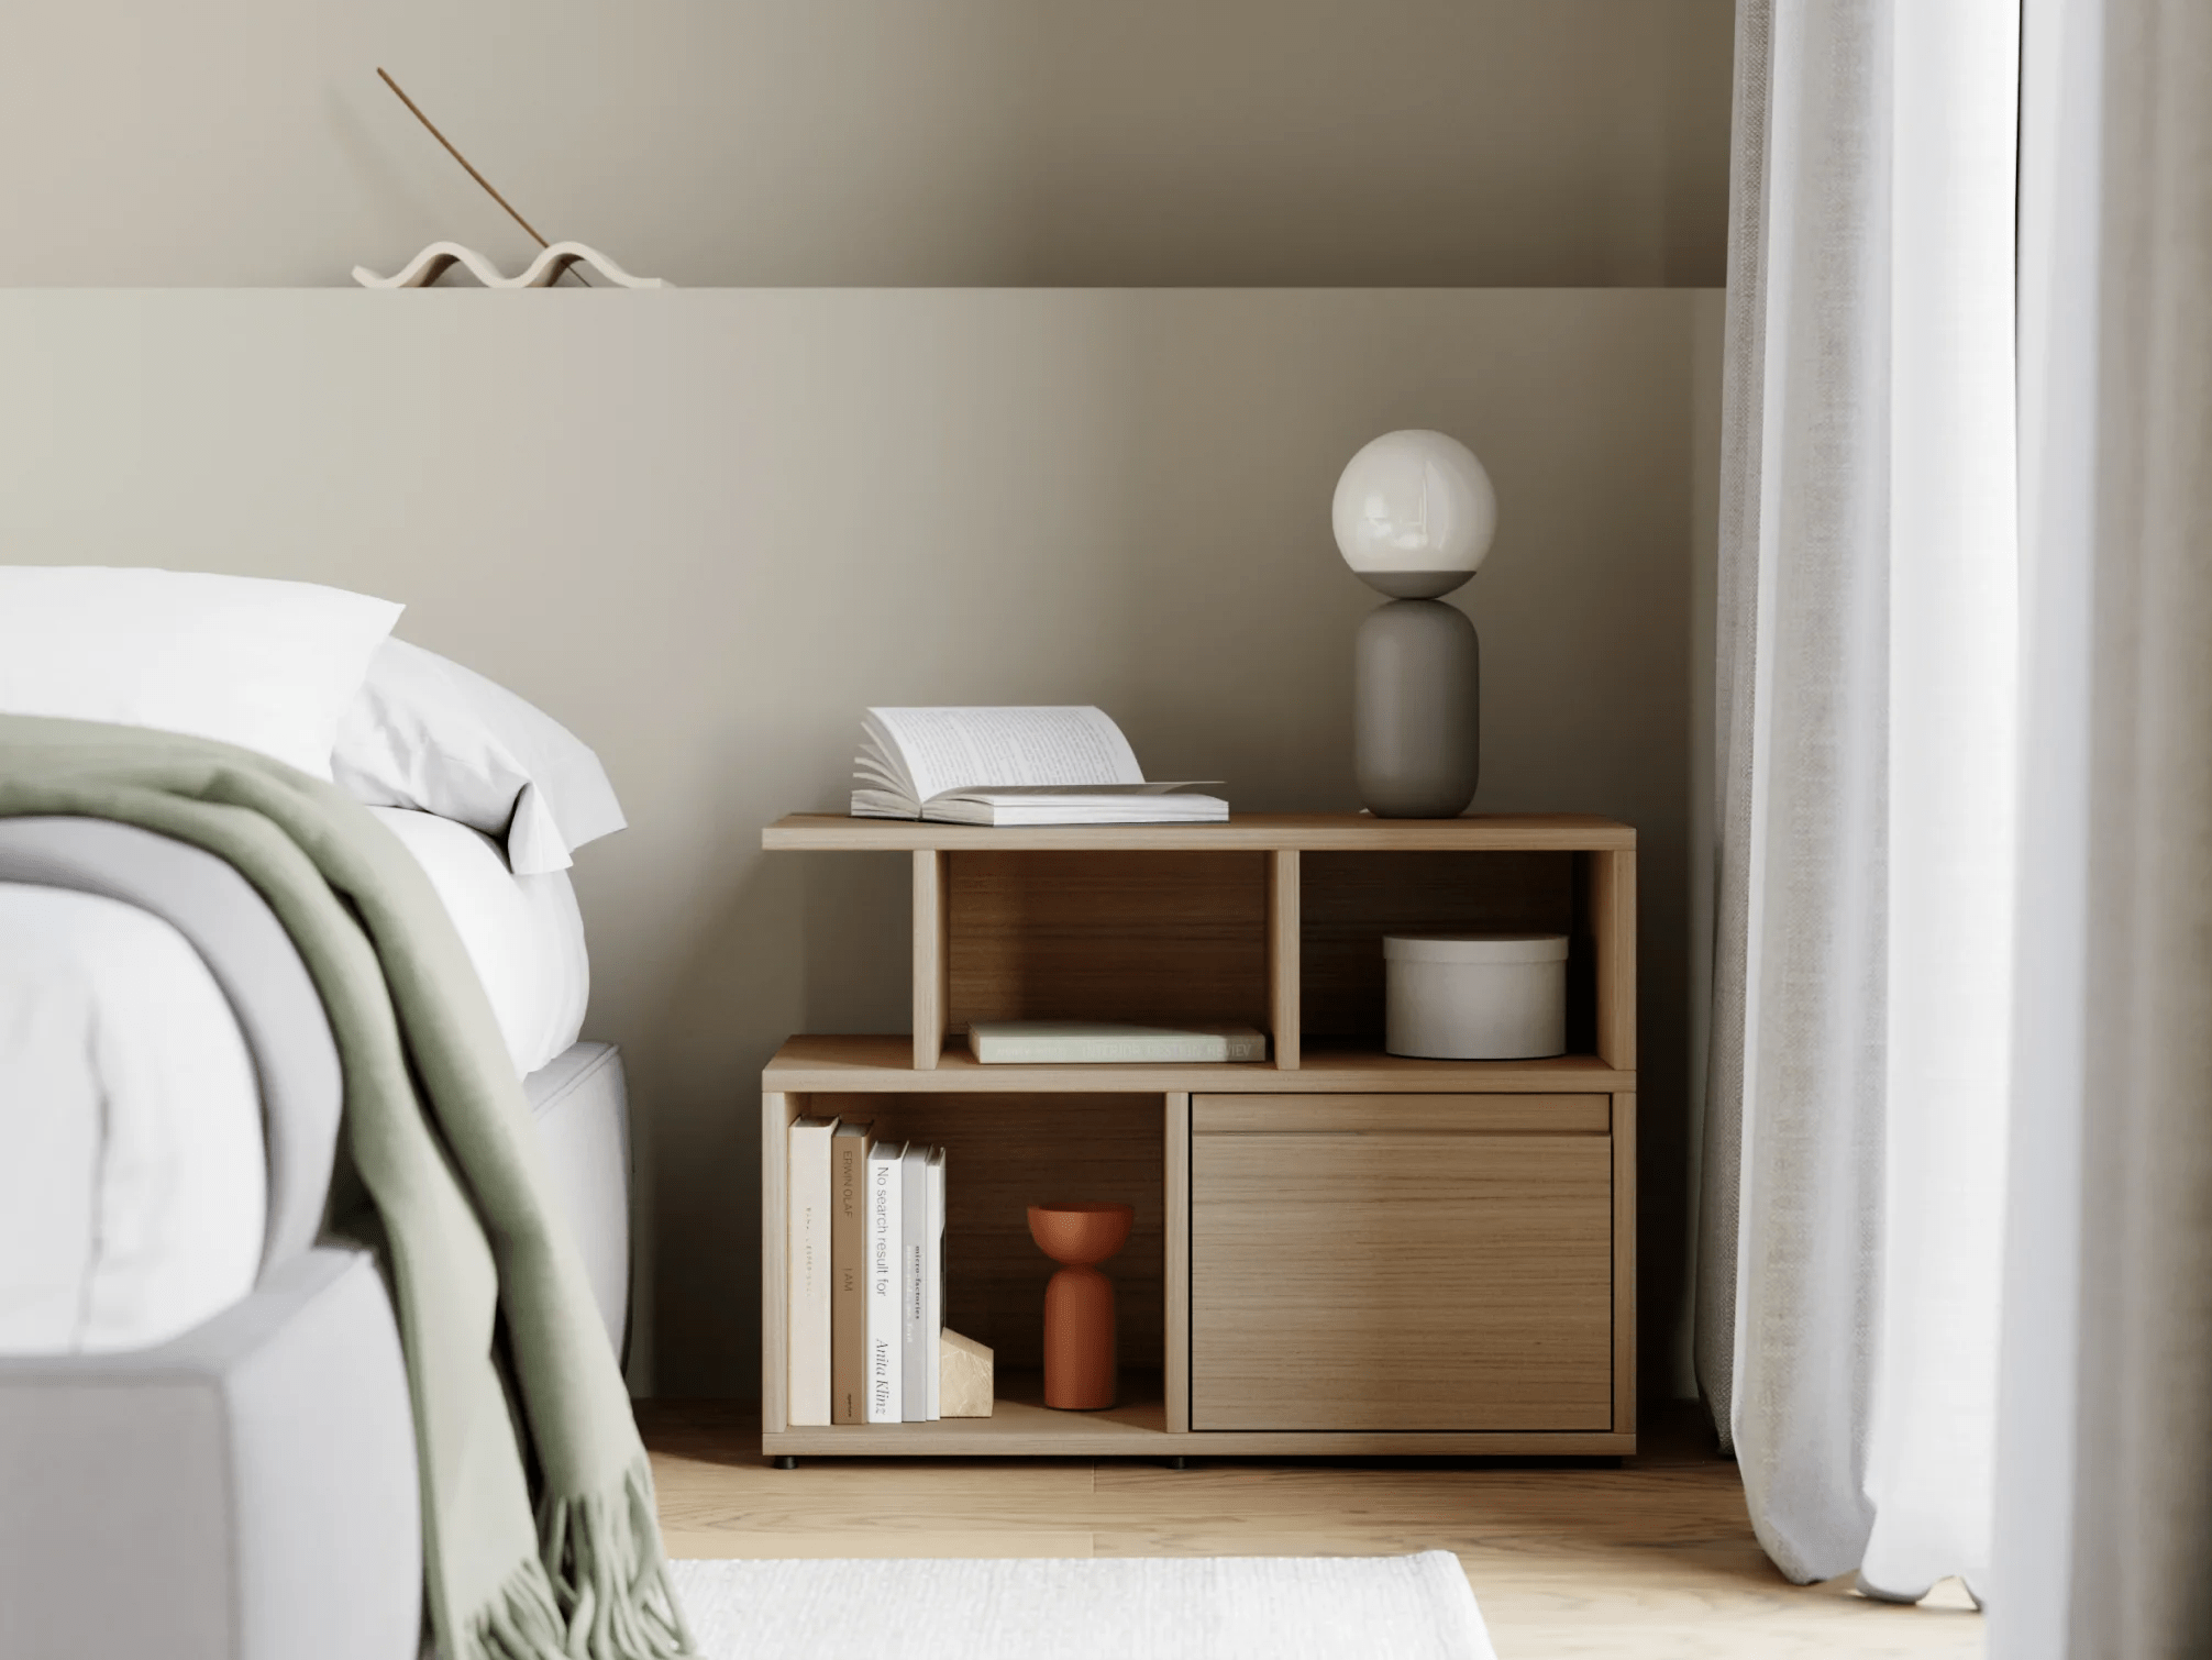
[[[1378,819],[1455,819],[1482,759],[1482,655],[1475,624],[1438,595],[1491,551],[1498,491],[1458,438],[1385,432],[1345,463],[1329,520],[1352,573],[1389,595],[1354,646],[1360,801]]]

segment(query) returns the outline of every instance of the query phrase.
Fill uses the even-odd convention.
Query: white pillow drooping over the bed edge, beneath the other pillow
[[[338,722],[332,777],[374,808],[418,808],[507,839],[518,876],[626,819],[599,757],[557,719],[434,651],[385,640]]]

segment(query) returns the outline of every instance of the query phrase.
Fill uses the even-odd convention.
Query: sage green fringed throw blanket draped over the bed
[[[491,1003],[420,865],[343,790],[281,761],[0,715],[0,817],[33,812],[117,819],[226,859],[314,976],[345,1071],[345,1149],[398,1301],[440,1656],[690,1653],[606,1328],[549,1211]]]

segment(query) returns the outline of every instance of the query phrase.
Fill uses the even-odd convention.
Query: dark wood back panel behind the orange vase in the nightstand
[[[1055,1200],[1137,1206],[1128,1244],[1102,1268],[1115,1284],[1124,1363],[1159,1368],[1161,1096],[814,1096],[812,1111],[867,1118],[876,1140],[945,1149],[945,1324],[998,1350],[998,1366],[1044,1361],[1044,1282],[1053,1262],[1029,1237],[1029,1206]]]

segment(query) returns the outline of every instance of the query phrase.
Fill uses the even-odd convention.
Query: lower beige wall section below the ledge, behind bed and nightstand
[[[1389,427],[1486,460],[1478,808],[1644,832],[1646,1310],[1677,1306],[1692,460],[1717,297],[0,294],[0,558],[294,575],[599,748],[591,1031],[630,1058],[637,1383],[750,1394],[757,1071],[896,1031],[905,865],[765,857],[867,704],[1097,702],[1155,775],[1352,808],[1374,602],[1327,500]],[[1710,496],[1705,498],[1710,511]],[[1661,1359],[1659,1352],[1652,1357]]]

